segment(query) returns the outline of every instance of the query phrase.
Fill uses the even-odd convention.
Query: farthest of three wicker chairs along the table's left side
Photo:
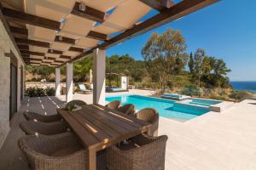
[[[28,121],[38,121],[38,122],[56,122],[56,121],[61,121],[61,116],[59,115],[49,115],[49,116],[44,116],[40,115],[36,112],[33,111],[25,111],[23,112],[23,115],[25,116],[26,120]]]

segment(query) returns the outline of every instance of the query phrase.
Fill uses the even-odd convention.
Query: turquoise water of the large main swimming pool
[[[133,104],[137,110],[152,107],[159,112],[160,116],[182,120],[190,120],[210,111],[208,108],[195,105],[177,104],[170,99],[158,99],[140,95],[109,96],[106,100],[108,102],[120,100],[121,105]]]

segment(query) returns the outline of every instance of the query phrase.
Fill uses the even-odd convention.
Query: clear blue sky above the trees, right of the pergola
[[[188,53],[204,48],[208,55],[224,59],[232,70],[231,81],[256,81],[256,1],[221,0],[207,8],[189,14],[122,42],[107,50],[112,54],[130,54],[143,59],[141,49],[153,32],[171,27],[183,33]],[[151,12],[148,15],[152,15]]]

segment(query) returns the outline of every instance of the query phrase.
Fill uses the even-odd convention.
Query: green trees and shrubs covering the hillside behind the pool
[[[180,31],[167,29],[162,34],[153,33],[142,49],[143,60],[129,54],[112,55],[106,59],[106,72],[129,77],[136,88],[188,94],[211,99],[238,101],[253,98],[249,92],[232,90],[227,73],[230,69],[223,59],[207,54],[198,48],[187,53],[186,41]],[[88,56],[74,63],[74,82],[89,82],[93,58]],[[37,82],[45,78],[55,81],[55,68],[49,66],[26,66],[26,81]],[[65,81],[65,68],[61,68]],[[108,74],[107,86],[118,87],[120,78]],[[111,81],[111,83],[110,83]]]

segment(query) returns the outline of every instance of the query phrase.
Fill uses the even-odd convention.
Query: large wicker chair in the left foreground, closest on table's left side
[[[29,135],[18,144],[33,170],[85,170],[87,166],[87,151],[73,133]]]

